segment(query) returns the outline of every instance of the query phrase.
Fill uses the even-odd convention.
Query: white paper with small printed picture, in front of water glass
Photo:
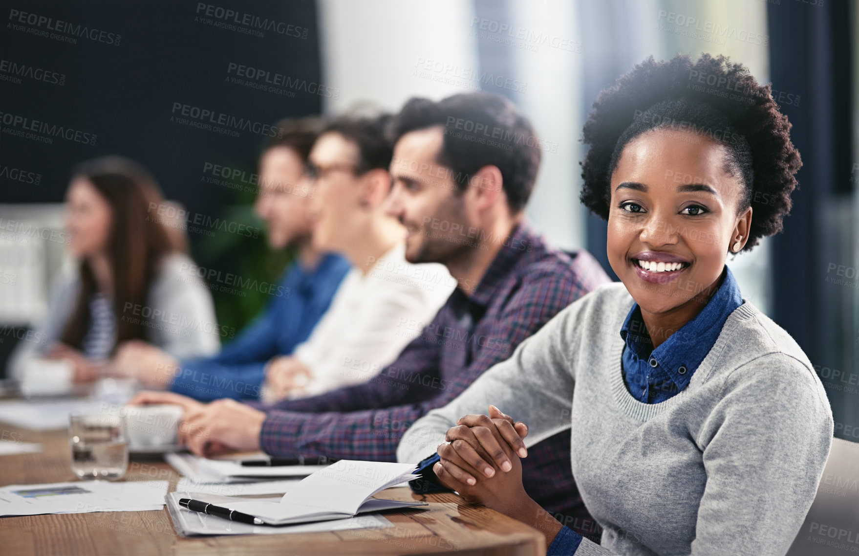
[[[168,481],[72,481],[0,488],[0,516],[161,510]]]

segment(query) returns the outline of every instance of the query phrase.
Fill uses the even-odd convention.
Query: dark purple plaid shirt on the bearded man
[[[287,458],[396,461],[412,423],[447,405],[561,309],[608,281],[587,251],[547,247],[522,223],[472,295],[454,290],[421,335],[369,382],[260,406],[268,413],[260,445]],[[546,510],[564,514],[561,521],[574,528],[589,517],[570,469],[569,431],[534,446],[522,463],[527,492]]]

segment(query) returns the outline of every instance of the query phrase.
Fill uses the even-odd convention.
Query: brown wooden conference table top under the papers
[[[6,438],[42,443],[40,454],[0,455],[0,486],[75,480],[70,469],[68,433],[34,432],[0,424]],[[169,480],[179,475],[160,460],[129,462],[125,480]],[[545,554],[536,530],[453,493],[416,495],[408,488],[385,491],[386,498],[419,498],[429,510],[387,512],[387,529],[297,535],[212,536],[183,539],[167,508],[86,514],[0,517],[0,553],[34,554],[348,554],[446,553],[468,556]]]

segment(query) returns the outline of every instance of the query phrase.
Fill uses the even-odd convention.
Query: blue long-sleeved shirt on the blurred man
[[[349,269],[336,254],[310,271],[293,263],[263,313],[216,356],[182,361],[170,389],[203,401],[259,398],[265,364],[308,339]]]

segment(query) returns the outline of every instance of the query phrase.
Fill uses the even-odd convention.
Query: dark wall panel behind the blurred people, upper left
[[[0,202],[61,201],[76,162],[121,154],[214,214],[233,197],[204,164],[253,171],[261,125],[320,112],[312,1],[0,6]]]

